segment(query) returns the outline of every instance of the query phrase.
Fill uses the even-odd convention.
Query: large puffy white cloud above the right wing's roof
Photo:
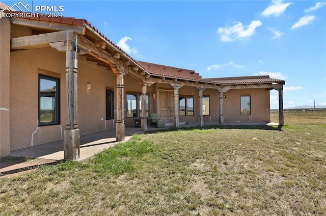
[[[225,28],[220,27],[218,33],[221,35],[221,41],[231,42],[236,39],[245,39],[254,35],[257,27],[262,25],[260,20],[253,20],[249,25],[243,26],[239,21],[233,22],[234,25]]]

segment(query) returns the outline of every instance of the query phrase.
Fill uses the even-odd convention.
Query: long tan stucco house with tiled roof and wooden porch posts
[[[4,13],[4,12],[2,12]],[[116,130],[150,113],[181,122],[270,122],[268,76],[202,78],[194,70],[136,61],[85,19],[0,18],[0,153],[64,140],[78,159],[81,135]]]

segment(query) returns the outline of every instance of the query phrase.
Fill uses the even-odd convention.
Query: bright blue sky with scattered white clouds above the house
[[[135,60],[203,78],[269,75],[285,80],[285,109],[326,106],[326,1],[21,2],[64,6],[63,16],[87,19]]]

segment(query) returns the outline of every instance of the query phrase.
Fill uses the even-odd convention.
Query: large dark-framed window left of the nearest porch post
[[[39,126],[60,124],[60,79],[39,74]]]

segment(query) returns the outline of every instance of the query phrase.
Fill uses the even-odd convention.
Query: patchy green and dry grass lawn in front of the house
[[[325,215],[326,117],[285,124],[135,135],[85,163],[0,179],[0,214]]]

